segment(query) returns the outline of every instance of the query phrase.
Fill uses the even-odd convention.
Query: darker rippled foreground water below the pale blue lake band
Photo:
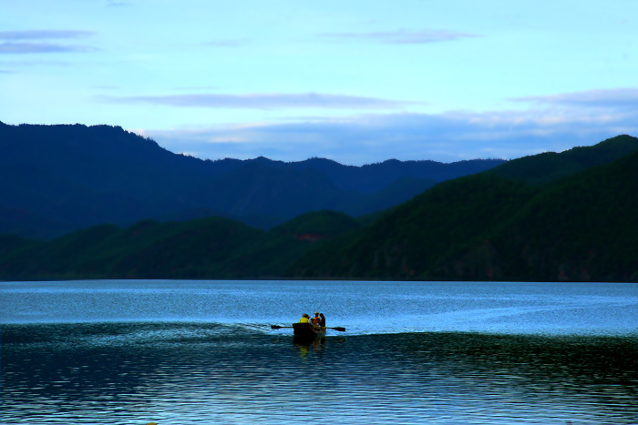
[[[422,333],[299,345],[292,335],[199,328],[5,325],[1,419],[630,423],[638,415],[636,337]]]

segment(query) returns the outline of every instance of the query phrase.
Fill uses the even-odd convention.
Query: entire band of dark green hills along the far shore
[[[292,168],[262,173],[278,167]],[[637,194],[638,138],[619,136],[449,178],[358,218],[321,210],[267,230],[207,217],[3,235],[0,278],[638,281]]]

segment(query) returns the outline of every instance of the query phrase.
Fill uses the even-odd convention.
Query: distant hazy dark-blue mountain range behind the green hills
[[[211,215],[271,228],[322,209],[369,214],[437,181],[502,163],[204,161],[173,154],[118,126],[0,122],[0,231],[55,238],[103,223],[127,227],[142,219]]]

